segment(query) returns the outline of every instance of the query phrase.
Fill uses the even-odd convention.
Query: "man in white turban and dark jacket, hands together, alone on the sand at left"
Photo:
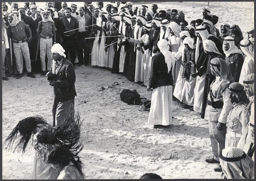
[[[54,90],[52,107],[53,126],[59,126],[68,115],[75,114],[75,82],[74,66],[66,59],[65,50],[59,43],[52,46],[51,72],[46,75],[48,83]]]

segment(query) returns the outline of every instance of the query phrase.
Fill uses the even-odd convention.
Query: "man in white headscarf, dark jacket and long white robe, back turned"
[[[168,41],[159,40],[157,46],[160,53],[152,57],[147,87],[147,91],[153,88],[148,124],[168,129],[172,124],[172,71],[175,61]]]

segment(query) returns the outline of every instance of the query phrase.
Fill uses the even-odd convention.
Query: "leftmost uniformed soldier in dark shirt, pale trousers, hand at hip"
[[[25,58],[28,77],[36,78],[36,76],[33,73],[31,73],[31,62],[30,62],[30,55],[28,50],[28,42],[32,38],[31,29],[26,23],[24,23],[23,21],[20,21],[17,18],[16,14],[11,13],[8,16],[8,21],[10,23],[10,26],[8,27],[7,34],[8,34],[8,37],[12,38],[14,56],[16,59],[17,70],[19,72],[17,79],[20,79],[21,77],[23,77],[23,74],[22,74],[23,66],[21,63],[22,55]]]

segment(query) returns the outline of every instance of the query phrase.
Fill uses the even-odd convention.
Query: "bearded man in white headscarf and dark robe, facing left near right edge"
[[[223,41],[223,51],[226,55],[225,61],[235,82],[239,81],[240,73],[244,63],[244,56],[240,49],[235,45],[234,38],[227,36]]]

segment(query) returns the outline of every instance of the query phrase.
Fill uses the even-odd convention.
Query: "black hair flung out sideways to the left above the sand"
[[[19,121],[19,123],[13,128],[12,132],[5,139],[4,143],[7,144],[9,149],[12,149],[13,143],[17,140],[17,145],[13,152],[17,149],[18,152],[22,150],[25,152],[28,141],[32,134],[36,134],[36,128],[41,128],[47,125],[47,122],[41,117],[27,117]]]

